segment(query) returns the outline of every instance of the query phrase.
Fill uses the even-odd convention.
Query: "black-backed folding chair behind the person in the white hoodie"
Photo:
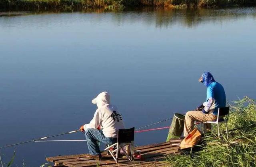
[[[129,156],[126,153],[126,150],[123,149],[123,146],[125,145],[132,146],[131,156]],[[114,146],[116,146],[116,149],[111,151],[110,148]],[[133,155],[133,149],[134,149],[134,127],[130,129],[118,129],[117,142],[112,145],[106,145],[106,149],[104,149],[104,151],[108,150],[108,152],[112,155],[116,163],[118,163],[119,148],[124,151],[124,154],[129,159],[129,161],[132,161],[133,159],[132,155]],[[115,152],[116,152],[116,156],[114,155]]]

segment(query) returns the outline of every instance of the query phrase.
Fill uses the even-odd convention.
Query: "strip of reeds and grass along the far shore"
[[[126,7],[142,6],[212,8],[254,5],[256,5],[256,0],[0,0],[0,10],[80,10],[93,8],[122,10]]]

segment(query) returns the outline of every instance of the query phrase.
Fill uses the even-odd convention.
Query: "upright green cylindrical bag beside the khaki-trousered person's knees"
[[[182,135],[184,122],[185,122],[184,115],[179,113],[174,114],[166,141],[169,141],[170,139],[177,139]]]

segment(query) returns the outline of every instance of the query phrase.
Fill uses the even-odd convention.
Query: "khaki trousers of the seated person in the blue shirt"
[[[194,121],[204,122],[204,121],[215,121],[217,119],[216,115],[204,114],[202,111],[188,111],[185,116],[184,123],[184,136],[187,136],[194,129]],[[206,125],[207,128],[210,127],[209,124]]]

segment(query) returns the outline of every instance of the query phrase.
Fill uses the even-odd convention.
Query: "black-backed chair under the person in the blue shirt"
[[[227,117],[224,119],[224,116]],[[206,121],[206,122],[200,122],[200,131],[202,131],[202,123],[214,123],[218,126],[218,136],[220,137],[220,127],[219,123],[226,123],[226,133],[228,138],[228,115],[229,115],[229,107],[220,107],[218,108],[218,115],[216,121]]]

